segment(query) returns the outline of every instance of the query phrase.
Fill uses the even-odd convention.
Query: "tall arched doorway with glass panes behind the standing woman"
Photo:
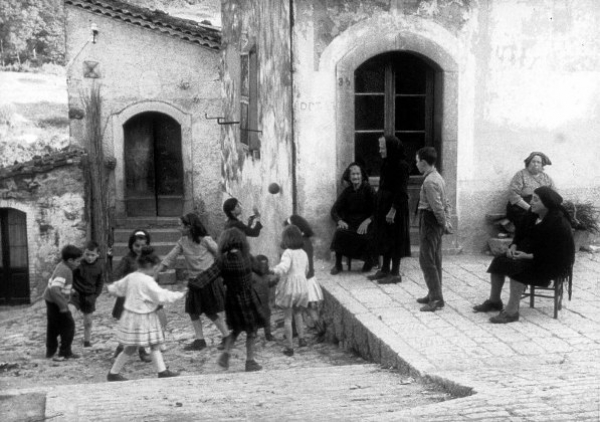
[[[415,166],[415,154],[424,146],[441,153],[442,107],[441,69],[430,60],[412,52],[379,54],[362,63],[354,72],[354,155],[367,168],[372,184],[379,182],[381,134],[397,136],[406,149],[411,174],[410,210],[417,206],[423,177]],[[438,163],[441,168],[442,161]],[[418,219],[411,212],[418,243]]]

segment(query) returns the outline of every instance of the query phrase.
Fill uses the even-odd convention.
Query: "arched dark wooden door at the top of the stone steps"
[[[123,132],[127,215],[180,216],[184,186],[179,123],[163,113],[144,112],[127,120]]]

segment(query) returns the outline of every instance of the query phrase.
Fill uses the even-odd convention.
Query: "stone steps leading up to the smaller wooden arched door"
[[[144,229],[150,233],[150,244],[160,257],[167,255],[181,237],[178,217],[118,218],[114,228],[113,268],[116,268],[121,258],[129,253],[129,236],[136,229]],[[183,279],[184,273],[185,259],[180,256],[173,268],[161,273],[159,283],[173,284],[176,280]]]

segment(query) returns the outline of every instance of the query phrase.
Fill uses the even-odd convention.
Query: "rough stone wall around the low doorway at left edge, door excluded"
[[[62,247],[86,240],[84,183],[77,164],[0,180],[0,208],[26,214],[32,302],[44,292]]]

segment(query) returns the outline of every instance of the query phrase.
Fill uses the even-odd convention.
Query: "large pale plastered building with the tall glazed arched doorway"
[[[255,249],[275,256],[297,212],[326,256],[341,173],[359,158],[376,184],[383,132],[410,158],[441,153],[456,251],[485,249],[531,151],[564,196],[598,203],[599,21],[593,0],[223,0],[222,117],[240,123],[223,126],[222,173],[261,207]]]

